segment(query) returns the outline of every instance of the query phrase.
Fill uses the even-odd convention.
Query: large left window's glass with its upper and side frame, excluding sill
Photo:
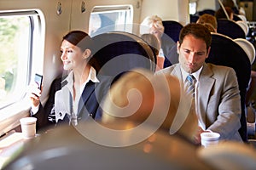
[[[32,42],[38,37],[35,33],[38,20],[35,11],[0,13],[1,112],[26,94],[32,71]]]

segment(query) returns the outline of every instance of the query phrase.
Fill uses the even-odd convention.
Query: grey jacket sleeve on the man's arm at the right
[[[221,139],[232,139],[241,127],[241,97],[236,72],[229,69],[222,72],[225,76],[218,102],[217,120],[207,129],[220,133]]]

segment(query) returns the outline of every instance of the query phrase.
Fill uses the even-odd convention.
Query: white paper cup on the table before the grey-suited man
[[[218,144],[219,133],[201,133],[201,145],[205,148],[213,145]]]

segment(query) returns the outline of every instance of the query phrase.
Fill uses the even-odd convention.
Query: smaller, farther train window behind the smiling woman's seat
[[[106,31],[132,31],[132,6],[96,6],[90,14],[91,37]]]

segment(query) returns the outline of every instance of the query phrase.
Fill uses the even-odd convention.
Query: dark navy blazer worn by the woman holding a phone
[[[82,106],[82,109],[79,110],[79,121],[88,119],[89,117],[100,120],[102,117],[102,108],[100,107],[100,103],[108,93],[112,79],[111,77],[103,75],[97,75],[97,78],[100,81],[99,83],[89,81],[84,87],[84,91],[81,96],[84,101],[84,105]],[[67,85],[67,81],[63,81],[63,79],[65,78],[58,77],[52,82],[49,90],[49,99],[46,104],[44,107],[40,104],[38,113],[34,115],[31,114],[38,118],[37,129],[56,124],[55,111],[53,109],[55,105],[55,93],[61,90],[61,87]],[[67,105],[70,104],[67,103]],[[64,119],[61,121],[59,120],[58,123],[61,122],[69,122],[69,118],[65,116]]]

